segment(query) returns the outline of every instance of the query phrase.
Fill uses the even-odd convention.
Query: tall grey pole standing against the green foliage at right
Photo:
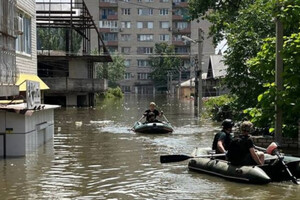
[[[283,90],[283,59],[281,56],[283,49],[283,26],[279,17],[276,19],[276,63],[275,63],[275,83],[277,92]],[[275,141],[282,144],[282,108],[278,105],[278,101],[282,100],[280,94],[277,93],[275,105]]]

